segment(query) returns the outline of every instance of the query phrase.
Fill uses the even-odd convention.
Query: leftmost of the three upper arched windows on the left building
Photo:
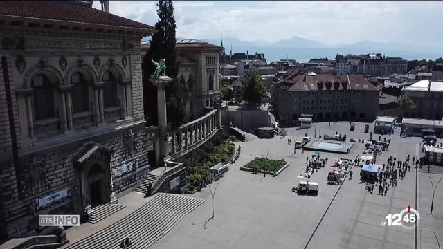
[[[54,118],[54,91],[44,75],[35,75],[31,85],[34,88],[34,118],[42,120]]]

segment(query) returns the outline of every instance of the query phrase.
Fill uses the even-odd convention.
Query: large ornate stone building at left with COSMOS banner
[[[0,234],[17,237],[147,174],[139,41],[155,30],[69,2],[1,6]]]

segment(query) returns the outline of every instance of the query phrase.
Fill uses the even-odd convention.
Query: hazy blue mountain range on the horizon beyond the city
[[[177,37],[177,41],[185,39]],[[219,45],[221,39],[202,39],[210,44]],[[233,53],[246,52],[250,55],[264,53],[268,62],[278,59],[297,59],[305,62],[311,58],[328,57],[334,59],[336,54],[367,54],[381,53],[389,57],[404,57],[405,59],[436,59],[443,57],[442,50],[425,48],[420,44],[412,45],[404,42],[373,42],[363,40],[354,44],[338,44],[328,46],[322,42],[302,37],[294,36],[289,39],[281,39],[277,42],[250,42],[238,39],[237,37],[223,37],[225,53],[230,53],[232,46]]]

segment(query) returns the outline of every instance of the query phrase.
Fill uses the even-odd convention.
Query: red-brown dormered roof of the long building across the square
[[[280,88],[288,91],[322,91],[322,90],[364,90],[378,91],[377,86],[362,75],[305,75],[293,73],[279,82]]]

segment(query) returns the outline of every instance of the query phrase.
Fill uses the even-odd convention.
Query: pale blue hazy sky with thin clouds
[[[154,26],[157,1],[109,1],[111,13]],[[94,1],[100,8],[100,1]],[[443,1],[175,1],[177,36],[327,45],[361,40],[440,48]]]

